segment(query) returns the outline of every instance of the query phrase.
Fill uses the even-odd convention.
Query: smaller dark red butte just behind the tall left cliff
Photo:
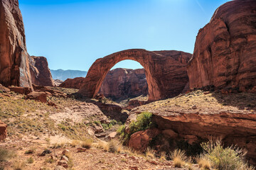
[[[38,86],[55,86],[46,57],[31,56],[31,79]]]

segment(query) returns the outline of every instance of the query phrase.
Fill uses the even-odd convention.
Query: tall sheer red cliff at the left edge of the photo
[[[32,87],[30,60],[18,0],[0,0],[0,83]]]

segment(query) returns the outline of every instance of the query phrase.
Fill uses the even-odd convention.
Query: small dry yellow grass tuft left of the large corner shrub
[[[186,153],[181,149],[175,149],[170,155],[171,159],[174,161],[174,167],[181,168],[183,164],[187,161]]]

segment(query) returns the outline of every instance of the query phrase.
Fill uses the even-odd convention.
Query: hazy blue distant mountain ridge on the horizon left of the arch
[[[80,70],[63,70],[63,69],[50,69],[53,79],[60,79],[65,81],[66,79],[74,79],[75,77],[86,77],[87,72]]]

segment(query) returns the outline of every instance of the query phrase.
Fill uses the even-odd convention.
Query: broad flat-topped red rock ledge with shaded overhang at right
[[[240,98],[242,101],[239,101]],[[227,96],[220,92],[212,94],[209,91],[193,91],[176,98],[139,106],[129,113],[127,124],[136,120],[138,113],[148,111],[152,113],[152,125],[160,133],[150,140],[154,137],[147,135],[150,130],[137,132],[131,136],[131,143],[143,140],[144,145],[131,146],[144,149],[150,143],[151,147],[157,147],[161,152],[174,149],[177,145],[181,147],[183,142],[189,147],[182,149],[194,147],[192,154],[195,154],[201,142],[220,137],[225,146],[238,145],[247,149],[248,160],[256,164],[255,101],[255,94]]]

